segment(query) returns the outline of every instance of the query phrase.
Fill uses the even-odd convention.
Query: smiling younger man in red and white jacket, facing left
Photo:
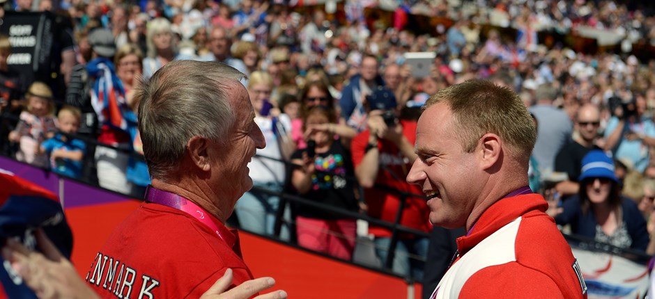
[[[431,223],[468,232],[432,298],[586,298],[569,244],[527,186],[537,130],[518,95],[466,81],[424,107],[407,181],[426,195]]]

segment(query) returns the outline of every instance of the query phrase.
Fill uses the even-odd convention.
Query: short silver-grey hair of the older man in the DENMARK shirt
[[[139,84],[139,131],[153,178],[178,168],[193,136],[226,145],[235,122],[226,87],[244,78],[224,63],[176,60]]]

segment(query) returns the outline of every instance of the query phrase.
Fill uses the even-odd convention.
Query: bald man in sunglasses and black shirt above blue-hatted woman
[[[566,172],[568,179],[555,185],[555,191],[566,200],[571,195],[578,194],[580,184],[580,169],[583,157],[593,149],[601,149],[596,145],[601,125],[601,111],[594,104],[580,107],[576,115],[576,133],[573,139],[564,145],[555,156],[555,172]]]

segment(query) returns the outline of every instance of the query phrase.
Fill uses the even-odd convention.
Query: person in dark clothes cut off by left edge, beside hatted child
[[[17,124],[21,113],[20,98],[25,93],[24,80],[7,63],[10,54],[9,38],[0,34],[0,152],[3,154],[12,154],[8,135]]]

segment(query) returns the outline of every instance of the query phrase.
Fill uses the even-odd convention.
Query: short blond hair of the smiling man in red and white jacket
[[[444,102],[452,111],[456,136],[473,152],[487,133],[500,136],[509,152],[527,162],[537,141],[537,127],[516,92],[491,81],[469,80],[437,92],[423,109]]]

